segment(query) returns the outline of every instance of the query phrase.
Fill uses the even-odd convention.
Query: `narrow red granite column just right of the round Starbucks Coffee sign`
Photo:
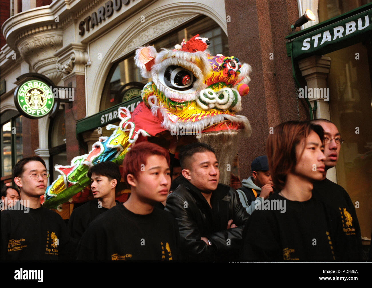
[[[65,78],[64,85],[75,87],[75,100],[72,104],[65,103],[67,162],[70,162],[74,157],[85,153],[84,149],[79,146],[76,137],[76,121],[84,118],[86,115],[84,75],[73,75]]]

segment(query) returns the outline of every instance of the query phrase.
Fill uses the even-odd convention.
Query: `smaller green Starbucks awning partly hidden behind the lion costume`
[[[94,114],[92,116],[77,120],[76,122],[76,135],[97,129],[98,127],[104,127],[107,124],[115,123],[119,120],[118,118],[118,108],[119,107],[126,107],[129,111],[133,112],[135,107],[142,102],[141,97],[135,97],[131,100],[125,101],[109,109],[103,110]]]

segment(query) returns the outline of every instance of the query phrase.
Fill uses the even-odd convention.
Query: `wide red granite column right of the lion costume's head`
[[[270,127],[298,120],[296,88],[285,36],[298,19],[296,0],[225,0],[229,52],[252,66],[250,92],[242,97],[242,111],[252,136],[239,145],[240,179],[250,176],[254,158],[266,155]],[[301,120],[307,110],[299,103]]]

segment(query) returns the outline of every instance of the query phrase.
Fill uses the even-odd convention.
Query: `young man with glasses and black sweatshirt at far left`
[[[54,211],[41,207],[49,174],[39,156],[23,158],[13,168],[20,189],[19,209],[1,213],[1,260],[45,261],[70,259],[74,242]]]

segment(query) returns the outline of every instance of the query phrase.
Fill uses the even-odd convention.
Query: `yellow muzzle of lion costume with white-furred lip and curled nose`
[[[188,127],[195,131],[204,132],[215,124],[218,130],[245,129],[250,134],[250,124],[245,116],[235,115],[241,109],[241,100],[235,88],[225,87],[215,93],[211,88],[200,92],[195,101],[173,101],[164,96],[153,82],[148,83],[142,90],[144,103],[151,109],[154,116],[162,118],[161,126],[166,130],[179,130]],[[208,95],[208,98],[205,97]],[[204,109],[203,109],[204,108]],[[206,109],[205,109],[206,108]]]

